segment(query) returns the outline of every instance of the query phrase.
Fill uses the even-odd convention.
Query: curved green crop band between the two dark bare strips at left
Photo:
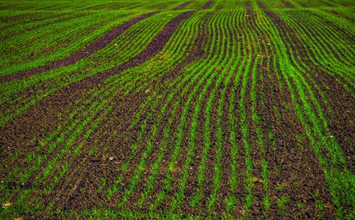
[[[166,18],[170,18],[171,16],[167,16],[170,13],[163,13],[160,16],[166,16]],[[176,14],[176,13],[175,13]],[[129,59],[132,57],[135,57],[137,54],[142,52],[144,48],[148,45],[150,41],[148,40],[143,40],[143,39],[153,39],[154,35],[157,35],[158,32],[161,30],[163,25],[168,23],[168,20],[161,19],[160,16],[155,16],[153,21],[161,21],[161,23],[158,23],[155,25],[156,22],[151,22],[151,25],[153,27],[153,30],[151,32],[145,32],[142,35],[138,36],[135,45],[131,45],[131,47],[127,47],[126,45],[114,45],[114,43],[111,45],[111,49],[114,49],[114,51],[120,52],[120,56],[112,56],[109,57],[109,59],[105,59],[105,62],[108,62],[110,59],[112,59],[112,62],[109,62],[109,64],[104,64],[102,65],[101,62],[98,62],[99,66],[96,66],[97,60],[94,58],[95,54],[92,56],[88,57],[87,59],[82,59],[80,62],[77,62],[76,64],[72,64],[70,66],[62,67],[61,69],[55,69],[51,70],[49,73],[43,73],[40,75],[36,75],[33,77],[31,81],[28,81],[28,79],[23,79],[21,81],[15,81],[10,83],[10,85],[6,88],[4,87],[4,97],[1,99],[1,102],[4,103],[6,100],[10,100],[12,95],[15,95],[18,97],[16,98],[16,103],[17,105],[13,106],[12,109],[7,109],[6,112],[4,112],[6,115],[2,115],[2,120],[0,122],[0,125],[3,125],[5,122],[11,120],[13,116],[16,116],[23,112],[23,110],[26,110],[29,108],[31,105],[35,104],[38,102],[38,100],[43,99],[45,96],[50,95],[54,91],[57,91],[58,89],[70,85],[71,83],[75,83],[77,81],[80,81],[84,78],[87,78],[88,76],[93,76],[94,74],[97,74],[100,71],[107,71],[107,69],[113,68],[115,66],[119,66],[120,64],[124,64],[124,62],[127,62]],[[146,23],[138,23],[138,26],[133,27],[134,29],[141,29],[141,25],[145,25],[147,28],[149,26],[146,25]],[[133,30],[134,30],[133,29]],[[123,36],[126,35],[126,33],[123,34]],[[126,47],[124,47],[126,46]],[[126,50],[124,50],[126,48]],[[129,50],[127,50],[129,49]],[[105,48],[103,50],[106,50]],[[102,51],[99,51],[98,54],[101,54]],[[91,60],[91,61],[90,61]],[[85,66],[84,69],[82,69],[82,64],[89,62],[91,65]],[[74,71],[74,72],[73,72]],[[84,71],[85,74],[82,74]],[[66,75],[69,75],[70,78],[65,78]],[[63,81],[65,79],[65,81]],[[26,92],[26,88],[29,86],[33,86],[36,83],[41,82],[44,83],[44,85],[40,85],[38,87],[43,88],[47,83],[50,85],[50,88],[47,88],[44,91],[41,91],[42,89],[39,88],[42,94],[38,95],[30,95],[30,97],[26,97],[28,94],[26,94],[24,97],[22,95],[19,95],[18,92],[24,91]],[[45,87],[44,87],[45,88]],[[33,88],[32,88],[33,89]],[[19,106],[22,106],[19,108]]]

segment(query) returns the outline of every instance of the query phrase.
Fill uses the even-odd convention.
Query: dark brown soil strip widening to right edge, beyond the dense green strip
[[[261,8],[265,8],[261,2],[259,2],[259,6]],[[324,117],[328,119],[329,130],[332,134],[335,134],[334,138],[337,139],[339,144],[341,144],[340,146],[342,146],[342,149],[344,151],[345,160],[348,161],[349,165],[354,164],[354,147],[351,141],[349,141],[349,138],[352,140],[355,139],[355,128],[354,125],[351,124],[351,118],[355,117],[355,112],[353,109],[351,109],[351,106],[354,106],[355,104],[354,98],[352,98],[351,93],[349,91],[346,91],[344,86],[342,86],[342,84],[337,81],[336,72],[330,69],[320,69],[319,67],[316,67],[316,64],[305,60],[305,57],[307,57],[307,55],[305,54],[307,48],[302,45],[302,43],[300,42],[300,40],[297,39],[297,37],[293,37],[296,34],[295,30],[293,30],[290,25],[282,21],[282,19],[277,16],[273,11],[265,11],[265,13],[267,16],[269,16],[269,18],[271,18],[273,23],[278,26],[278,30],[281,30],[281,35],[285,39],[285,41],[294,42],[292,45],[290,45],[290,47],[289,45],[286,45],[286,47],[288,47],[289,49],[288,51],[290,51],[291,48],[292,51],[297,52],[301,57],[302,62],[306,63],[307,66],[310,68],[308,74],[310,74],[310,76],[312,76],[312,79],[315,81],[315,84],[312,83],[310,86],[312,86],[312,91],[316,92],[315,96],[317,100],[320,101],[322,112],[324,112]],[[351,37],[351,35],[349,37]],[[325,70],[332,72],[334,76],[327,74]],[[309,76],[305,75],[305,77],[307,81],[310,81]],[[341,80],[344,81],[344,79]],[[344,83],[347,82],[344,81]],[[320,86],[320,89],[315,88],[315,85]],[[325,97],[328,97],[327,102],[322,98],[321,93],[323,93]],[[343,105],[342,103],[346,104]],[[313,106],[313,108],[316,107]],[[332,112],[330,110],[332,110]],[[348,137],[348,139],[346,140],[345,137]]]

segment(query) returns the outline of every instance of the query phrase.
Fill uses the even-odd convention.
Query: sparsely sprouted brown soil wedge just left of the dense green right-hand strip
[[[316,217],[315,214],[318,212],[315,207],[316,199],[327,204],[327,208],[320,212],[325,212],[327,216],[335,216],[332,196],[329,194],[322,167],[310,147],[302,125],[295,120],[297,119],[295,110],[287,104],[291,102],[290,93],[281,91],[275,79],[270,80],[265,76],[264,80],[265,108],[258,114],[262,115],[261,127],[267,147],[266,161],[270,168],[268,173],[271,208],[268,215],[278,215],[280,212],[278,199],[285,196],[289,199],[285,204],[287,214],[281,214],[285,218]],[[316,193],[317,197],[314,196]],[[297,204],[301,203],[302,209],[297,208]]]

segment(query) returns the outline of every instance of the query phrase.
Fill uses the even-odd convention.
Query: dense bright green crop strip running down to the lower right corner
[[[274,29],[274,31],[277,35],[277,30]],[[277,39],[277,37],[275,38]],[[285,47],[281,40],[279,43],[281,48]],[[346,168],[346,166],[343,166],[345,162],[344,157],[342,156],[342,152],[339,151],[339,145],[332,139],[329,141],[326,137],[327,134],[322,134],[321,126],[324,123],[324,119],[317,118],[315,113],[312,111],[309,101],[306,100],[305,89],[301,86],[301,83],[305,83],[303,86],[307,86],[307,82],[304,81],[302,74],[297,72],[295,67],[291,67],[292,65],[290,64],[290,60],[288,60],[288,56],[285,54],[285,48],[281,50],[281,52],[278,51],[278,57],[278,59],[280,59],[280,71],[283,73],[283,76],[288,83],[288,87],[290,88],[293,103],[295,105],[295,109],[297,110],[297,115],[300,117],[302,125],[305,127],[305,131],[312,143],[312,147],[315,150],[315,154],[319,158],[320,164],[324,169],[324,175],[329,183],[330,192],[332,193],[334,199],[334,204],[338,208],[338,214],[339,216],[342,216],[344,214],[344,209],[342,209],[344,202],[341,202],[340,197],[342,196],[342,192],[346,192],[351,188],[351,183],[353,183],[352,179],[354,176],[349,173],[349,170]],[[290,79],[293,79],[295,83],[294,86],[291,84]],[[308,92],[311,92],[309,87],[306,87],[306,89]],[[302,105],[296,102],[295,93],[297,93],[300,100],[302,100]],[[312,101],[317,102],[315,98],[312,98]],[[305,115],[303,111],[307,112],[307,115]],[[312,129],[310,129],[310,125],[307,124],[306,120],[310,121],[313,127]],[[322,146],[326,146],[327,151],[330,153],[330,158],[328,156],[322,155]],[[334,163],[337,163],[339,168],[332,165]],[[346,179],[344,179],[344,176],[346,176]],[[353,201],[351,199],[351,194],[346,196],[346,202],[352,204]]]

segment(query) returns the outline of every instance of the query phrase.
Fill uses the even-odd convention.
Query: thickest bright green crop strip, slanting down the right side
[[[293,23],[293,25],[296,24]],[[290,27],[293,27],[293,25],[290,25]],[[297,30],[301,31],[302,29]],[[279,35],[278,31],[275,29],[269,33]],[[273,36],[273,38],[277,39],[275,36]],[[327,128],[327,120],[324,118],[320,108],[320,100],[315,97],[314,91],[312,91],[312,88],[310,87],[310,82],[305,80],[305,74],[302,73],[302,69],[297,69],[297,66],[293,66],[290,60],[292,59],[292,55],[290,57],[286,53],[287,50],[285,48],[285,44],[287,44],[287,42],[281,39],[278,42],[278,46],[280,47],[280,50],[277,50],[280,62],[280,72],[283,74],[283,77],[288,84],[293,104],[297,110],[297,115],[300,117],[302,125],[305,127],[307,136],[315,150],[315,154],[318,156],[320,164],[324,169],[324,175],[327,178],[330,192],[333,196],[333,202],[338,208],[338,214],[339,216],[342,216],[342,212],[344,212],[344,210],[340,202],[340,197],[342,197],[342,193],[345,193],[351,189],[351,184],[353,183],[353,180],[351,179],[353,179],[354,176],[351,175],[345,165],[346,162],[344,161],[344,156],[342,155],[342,151],[339,149],[337,142],[334,141],[334,139],[327,138],[332,137],[332,134]],[[322,42],[322,40],[317,42]],[[310,45],[312,44],[310,43]],[[319,45],[317,50],[318,48],[322,48],[322,46]],[[315,54],[315,51],[312,52]],[[293,83],[291,83],[291,79]],[[310,99],[307,100],[306,97],[309,97]],[[298,103],[296,99],[302,100],[302,103]],[[312,126],[312,129],[310,126]],[[326,153],[326,155],[324,155],[324,153],[322,154],[323,147],[325,147],[326,151],[329,152]],[[347,177],[346,180],[342,178],[344,176]],[[351,194],[347,194],[347,196],[348,198],[345,201],[349,202],[349,204],[353,204],[354,201],[351,199]],[[343,200],[343,202],[345,201]]]

